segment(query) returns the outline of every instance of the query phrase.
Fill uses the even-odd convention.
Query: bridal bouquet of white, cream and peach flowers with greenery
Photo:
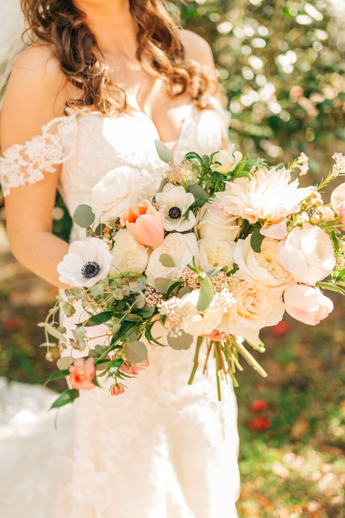
[[[323,203],[324,186],[345,174],[345,158],[335,153],[331,172],[318,186],[300,188],[291,171],[308,170],[302,153],[285,168],[268,168],[233,150],[199,156],[189,152],[170,166],[170,151],[156,141],[167,172],[150,199],[140,196],[138,169],[118,167],[94,187],[91,206],[80,205],[73,220],[86,238],[70,244],[58,265],[68,285],[39,325],[61,348],[85,350],[63,356],[47,381],[67,377],[71,388],[59,407],[112,378],[121,394],[126,378],[148,366],[145,343],[196,352],[216,363],[220,379],[235,385],[240,356],[262,376],[248,350],[263,352],[260,329],[276,325],[285,311],[316,325],[333,309],[323,291],[345,294],[345,183]],[[81,304],[84,318],[67,333],[64,318]],[[58,309],[61,311],[57,319]],[[100,327],[100,344],[88,348],[87,328]],[[162,338],[166,329],[166,338]],[[204,345],[203,345],[204,344]]]

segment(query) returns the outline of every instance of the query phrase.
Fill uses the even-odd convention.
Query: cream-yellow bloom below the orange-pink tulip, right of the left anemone
[[[111,273],[134,271],[142,274],[148,263],[146,247],[139,244],[127,229],[115,234]]]

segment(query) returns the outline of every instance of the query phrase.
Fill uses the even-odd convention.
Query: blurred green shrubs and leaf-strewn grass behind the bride
[[[237,148],[271,164],[304,151],[310,173],[303,182],[325,177],[332,154],[345,152],[344,0],[169,6],[212,46]],[[54,231],[68,239],[69,225],[57,196]],[[42,382],[54,367],[39,348],[36,322],[55,290],[13,259],[4,225],[0,261],[1,375]],[[345,517],[345,299],[330,296],[335,310],[319,326],[286,319],[265,330],[259,359],[267,379],[248,368],[238,375],[240,518]]]

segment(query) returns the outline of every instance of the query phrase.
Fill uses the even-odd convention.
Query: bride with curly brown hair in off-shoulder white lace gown
[[[56,266],[68,243],[51,232],[56,189],[73,213],[109,170],[129,165],[150,196],[164,173],[154,140],[175,163],[189,150],[208,154],[226,147],[227,117],[211,49],[177,27],[162,0],[21,4],[35,42],[14,63],[1,111],[7,231],[14,256],[63,293]],[[125,394],[84,391],[64,483],[42,516],[54,518],[53,507],[58,518],[237,516],[233,387],[218,402],[212,371],[187,385],[192,357],[192,348],[149,346],[150,365]],[[64,443],[61,430],[55,440]]]

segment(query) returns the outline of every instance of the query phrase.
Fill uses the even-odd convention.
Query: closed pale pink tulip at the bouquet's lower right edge
[[[333,310],[333,302],[317,288],[296,284],[284,292],[287,313],[299,322],[317,325]]]

